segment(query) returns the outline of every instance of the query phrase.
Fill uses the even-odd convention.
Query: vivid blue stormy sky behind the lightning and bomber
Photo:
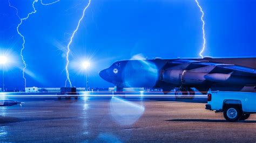
[[[256,1],[198,1],[205,13],[204,56],[256,57]],[[8,0],[0,2],[0,49],[12,57],[4,69],[5,86],[23,88],[19,56],[22,38],[16,31],[19,19]],[[32,11],[33,1],[10,2],[22,18]],[[35,4],[37,12],[20,27],[26,40],[27,87],[65,85],[66,46],[87,2]],[[128,60],[137,54],[149,59],[199,58],[203,45],[200,17],[192,0],[92,0],[70,46],[72,85],[85,87],[85,72],[79,66],[83,59],[92,63],[88,70],[90,87],[109,87],[112,84],[102,80],[98,72],[114,61]]]

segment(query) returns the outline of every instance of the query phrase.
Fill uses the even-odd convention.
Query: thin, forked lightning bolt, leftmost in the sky
[[[28,15],[27,15],[25,18],[19,17],[19,15],[18,15],[18,9],[17,9],[15,6],[11,5],[11,3],[10,3],[9,0],[8,0],[8,2],[9,2],[9,6],[10,6],[11,8],[14,8],[14,9],[16,10],[16,15],[17,15],[17,17],[18,17],[19,20],[20,20],[20,23],[19,23],[18,26],[17,26],[17,33],[22,37],[22,40],[23,40],[22,48],[21,48],[20,54],[21,54],[21,58],[22,58],[22,61],[23,61],[23,65],[24,65],[24,67],[23,67],[23,69],[22,69],[22,77],[23,77],[23,79],[24,79],[24,87],[26,88],[26,77],[25,77],[26,61],[24,60],[24,56],[23,56],[23,51],[24,51],[24,49],[25,49],[25,42],[26,42],[26,41],[25,41],[24,35],[22,35],[22,33],[19,32],[19,27],[22,25],[22,23],[23,23],[24,20],[27,20],[30,15],[32,15],[32,14],[34,14],[34,13],[37,12],[37,11],[36,11],[36,8],[35,8],[35,3],[37,3],[38,0],[34,0],[34,1],[33,1],[33,3],[32,3],[33,11],[30,12],[30,13],[28,13]],[[42,4],[42,5],[51,5],[51,4],[57,3],[57,2],[59,2],[59,0],[57,0],[56,2],[44,4],[44,3],[42,2],[42,0],[41,0],[41,4]]]

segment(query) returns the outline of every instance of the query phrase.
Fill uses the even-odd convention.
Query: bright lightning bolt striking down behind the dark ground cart
[[[70,45],[71,45],[71,43],[72,43],[72,41],[73,41],[74,35],[76,34],[76,32],[77,32],[77,30],[78,30],[78,28],[79,28],[79,26],[80,26],[81,21],[82,21],[83,18],[84,18],[84,13],[85,13],[86,9],[90,6],[90,4],[91,4],[91,0],[89,0],[89,3],[85,6],[85,8],[84,8],[84,10],[83,10],[83,15],[82,15],[82,17],[79,19],[78,24],[77,24],[77,27],[76,27],[76,30],[73,31],[72,36],[71,36],[70,41],[69,41],[69,44],[68,44],[68,52],[66,53],[66,67],[65,67],[65,69],[66,69],[65,87],[66,87],[66,83],[67,83],[68,81],[69,81],[70,87],[72,87],[72,84],[71,84],[71,81],[70,81],[70,78],[69,78],[69,70],[68,70],[68,67],[69,67]]]

